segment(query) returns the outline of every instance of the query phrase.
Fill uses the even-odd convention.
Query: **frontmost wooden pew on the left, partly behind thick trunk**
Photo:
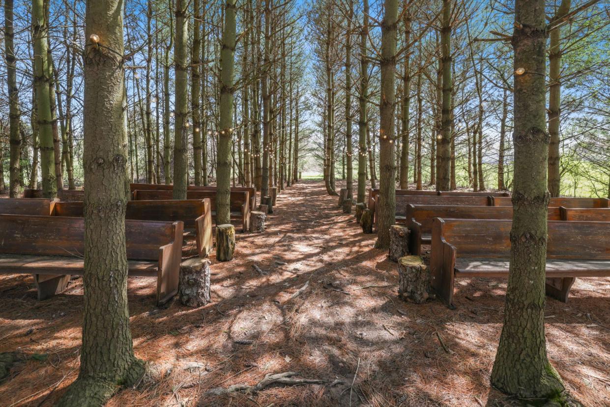
[[[130,276],[157,278],[157,304],[178,292],[182,222],[126,220]],[[33,274],[38,300],[66,288],[84,273],[85,220],[0,215],[0,273]]]

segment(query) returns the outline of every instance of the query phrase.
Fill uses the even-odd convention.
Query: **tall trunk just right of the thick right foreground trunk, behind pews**
[[[557,21],[570,11],[571,0],[561,0],[553,20]],[[548,192],[552,197],[561,193],[561,170],[559,163],[559,124],[561,123],[561,27],[550,32],[548,49],[548,132],[551,142],[548,146]]]

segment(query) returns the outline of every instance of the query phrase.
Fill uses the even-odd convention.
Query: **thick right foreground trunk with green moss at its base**
[[[544,0],[515,2],[514,134],[511,264],[506,309],[491,382],[520,398],[555,398],[564,390],[547,359],[545,261],[547,159]]]

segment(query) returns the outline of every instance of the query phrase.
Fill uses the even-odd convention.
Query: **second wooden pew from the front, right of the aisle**
[[[406,224],[409,228],[409,253],[421,256],[422,245],[431,243],[434,218],[512,219],[512,207],[407,204]],[[548,208],[548,220],[562,220],[558,207]]]

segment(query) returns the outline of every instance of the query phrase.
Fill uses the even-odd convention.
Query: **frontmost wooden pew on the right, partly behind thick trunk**
[[[432,287],[453,308],[455,278],[508,278],[511,220],[432,221]],[[547,295],[567,301],[576,277],[610,276],[607,222],[548,222]]]

